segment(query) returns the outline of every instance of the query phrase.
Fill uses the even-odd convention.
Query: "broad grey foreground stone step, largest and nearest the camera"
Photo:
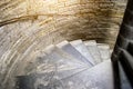
[[[17,77],[17,89],[113,89],[113,72],[110,60],[91,69],[81,69],[70,76],[62,77],[66,72],[71,73],[72,70],[60,73],[19,76]]]

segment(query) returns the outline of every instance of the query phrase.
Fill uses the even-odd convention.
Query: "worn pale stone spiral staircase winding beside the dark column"
[[[30,73],[17,77],[16,89],[113,89],[111,52],[95,40],[51,44],[33,60]],[[121,77],[123,89],[132,89]]]

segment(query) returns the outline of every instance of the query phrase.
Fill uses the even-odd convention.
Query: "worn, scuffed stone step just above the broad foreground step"
[[[31,73],[44,73],[44,72],[64,72],[66,71],[63,76],[68,76],[70,75],[71,72],[74,71],[79,71],[79,70],[82,70],[82,69],[89,69],[90,67],[89,66],[74,66],[74,65],[62,65],[62,66],[57,66],[57,65],[53,65],[53,63],[41,63],[40,66],[38,66],[38,68],[35,69],[34,72],[31,72]]]

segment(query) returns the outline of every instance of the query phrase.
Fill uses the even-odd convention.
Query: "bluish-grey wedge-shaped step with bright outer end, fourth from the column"
[[[69,55],[73,56],[75,59],[88,63],[89,66],[93,66],[84,56],[82,56],[69,41],[64,40],[57,44],[58,48],[62,49],[63,51],[68,52]]]

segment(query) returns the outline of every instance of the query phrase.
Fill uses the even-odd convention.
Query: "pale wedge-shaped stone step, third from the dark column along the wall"
[[[70,41],[70,43],[71,43],[81,55],[83,55],[92,65],[94,65],[94,60],[93,60],[92,56],[90,55],[88,48],[85,47],[85,44],[82,42],[81,39],[74,40],[74,41]]]

